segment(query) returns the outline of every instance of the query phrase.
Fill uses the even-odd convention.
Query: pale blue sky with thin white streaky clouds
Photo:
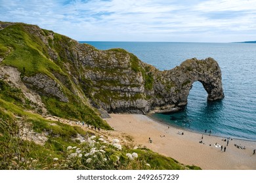
[[[0,0],[0,21],[77,41],[255,41],[256,0]]]

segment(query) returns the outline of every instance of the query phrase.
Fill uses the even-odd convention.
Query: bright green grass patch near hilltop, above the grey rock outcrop
[[[13,50],[5,57],[3,63],[17,67],[26,76],[35,73],[49,75],[49,71],[61,72],[60,67],[48,59],[47,46],[39,37],[30,33],[24,24],[10,25],[0,31],[1,50],[6,50],[6,46]]]

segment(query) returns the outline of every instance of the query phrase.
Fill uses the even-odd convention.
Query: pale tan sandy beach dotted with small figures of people
[[[145,115],[110,114],[110,116],[111,118],[105,120],[115,131],[131,135],[135,144],[146,146],[180,163],[197,165],[205,170],[256,170],[256,155],[253,155],[253,149],[256,148],[255,141],[232,139],[226,146],[227,142],[223,141],[223,137],[168,127],[167,124],[155,122]],[[178,132],[183,132],[184,135]],[[148,141],[149,137],[152,143]],[[237,148],[234,144],[245,146],[246,149]],[[222,151],[221,145],[223,145]]]

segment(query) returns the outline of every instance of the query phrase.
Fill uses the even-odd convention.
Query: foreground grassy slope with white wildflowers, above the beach
[[[24,110],[22,93],[15,91],[16,98],[12,92],[2,92],[0,99],[0,169],[200,169],[146,148],[126,145],[120,150],[96,131],[45,120]],[[44,144],[31,141],[31,133],[44,137]],[[127,156],[133,153],[138,158]]]

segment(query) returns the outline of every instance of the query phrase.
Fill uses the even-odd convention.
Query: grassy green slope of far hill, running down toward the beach
[[[56,62],[58,64],[56,64],[49,57],[51,41],[43,42],[38,36],[42,34],[45,37],[45,33],[49,33],[49,31],[27,24],[9,25],[0,30],[0,56],[4,58],[1,65],[16,67],[22,78],[42,73],[60,84],[62,92],[68,96],[68,103],[61,102],[49,95],[41,95],[50,114],[110,129],[109,125],[98,116],[98,112],[89,106],[86,99],[83,100],[74,95],[72,90],[81,91],[81,88],[75,86],[70,75],[62,70],[64,61],[58,58]],[[58,34],[56,37],[57,39],[65,38]],[[49,38],[49,40],[51,39]],[[29,105],[27,107],[29,108]]]

